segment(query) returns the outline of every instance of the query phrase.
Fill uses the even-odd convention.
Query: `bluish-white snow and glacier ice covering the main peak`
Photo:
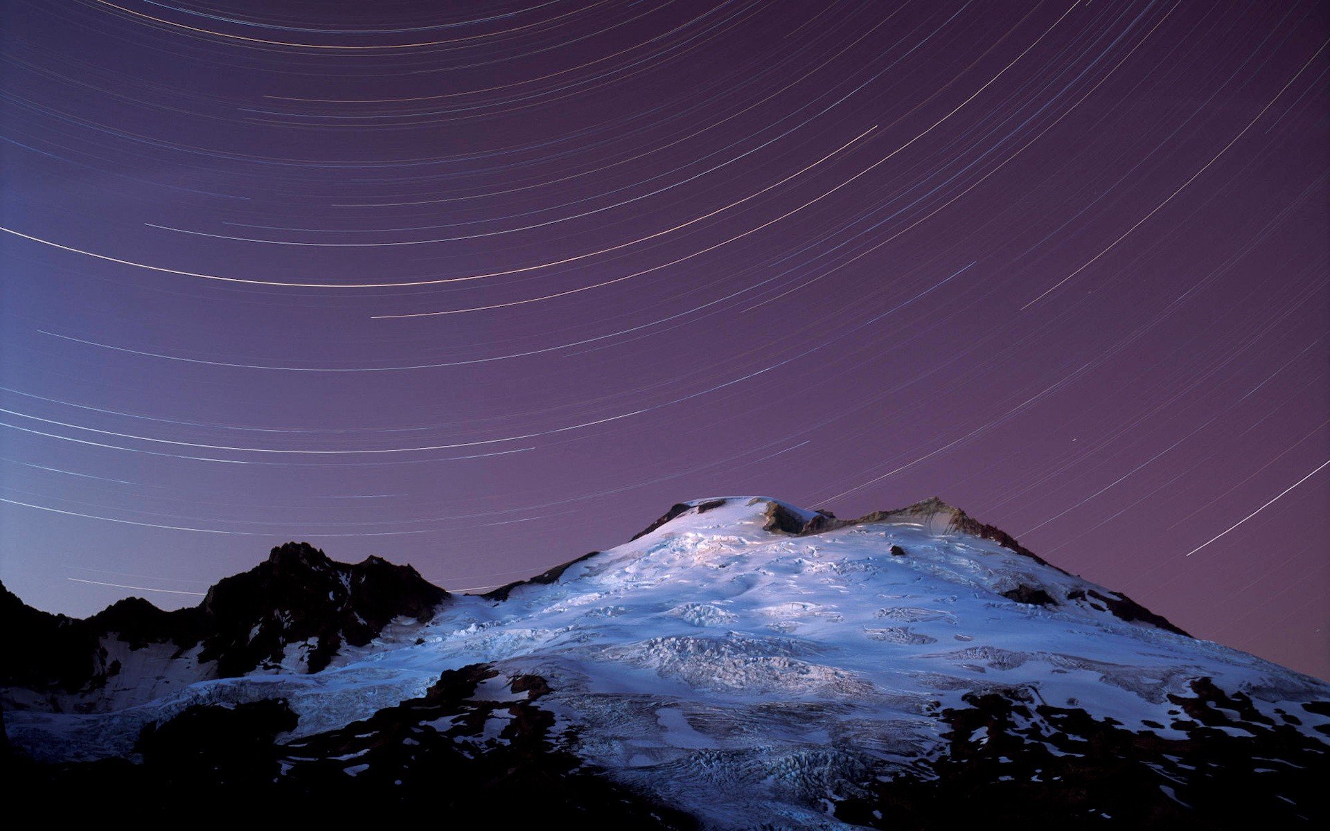
[[[967,533],[976,524],[940,503],[806,534],[766,529],[817,517],[773,500],[689,505],[552,582],[455,596],[323,671],[198,681],[110,713],[8,711],[11,739],[47,761],[126,755],[145,725],[192,705],[285,698],[299,717],[290,742],[488,663],[499,674],[475,699],[525,699],[509,679],[545,679],[539,705],[577,757],[720,827],[839,827],[829,811],[866,782],[927,776],[955,742],[982,745],[983,727],[956,737],[943,714],[987,693],[1188,741],[1178,699],[1208,678],[1271,725],[1327,741],[1330,715],[1302,706],[1330,699],[1323,682],[1123,620],[1134,613],[1119,596]],[[493,709],[473,741],[504,742],[509,718]]]

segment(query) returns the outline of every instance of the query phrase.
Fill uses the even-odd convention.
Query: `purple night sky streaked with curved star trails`
[[[938,495],[1330,677],[1313,3],[4,0],[0,578]]]

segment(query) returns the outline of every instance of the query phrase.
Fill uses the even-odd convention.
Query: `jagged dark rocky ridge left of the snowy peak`
[[[0,586],[0,626],[24,633],[5,642],[0,685],[21,690],[25,707],[96,711],[168,694],[170,682],[315,673],[395,618],[430,620],[447,597],[408,565],[334,562],[307,542],[274,548],[198,606],[174,612],[132,597],[72,620],[31,609]]]

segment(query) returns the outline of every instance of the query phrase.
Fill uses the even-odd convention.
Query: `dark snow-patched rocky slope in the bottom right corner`
[[[874,828],[1298,828],[1330,815],[1325,746],[1261,715],[1240,694],[1192,682],[1169,729],[1132,731],[1036,690],[964,695],[943,710],[947,746],[922,769],[888,771],[835,815]],[[1158,730],[1164,726],[1158,725]]]

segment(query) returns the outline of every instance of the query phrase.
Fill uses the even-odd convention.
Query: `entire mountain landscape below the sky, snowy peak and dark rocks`
[[[500,827],[1330,816],[1330,685],[939,500],[853,521],[684,503],[484,596],[294,544],[230,581],[198,610],[88,621],[0,598],[12,779]]]

